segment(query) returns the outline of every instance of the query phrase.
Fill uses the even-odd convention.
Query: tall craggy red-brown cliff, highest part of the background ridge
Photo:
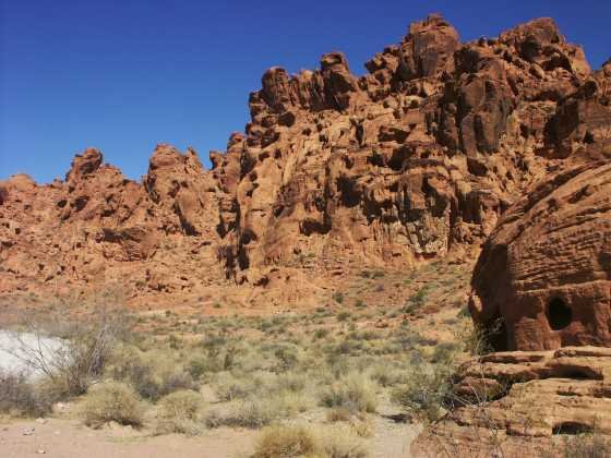
[[[313,72],[263,75],[247,137],[231,146],[240,180],[221,219],[235,227],[223,251],[232,275],[298,255],[411,265],[478,245],[555,159],[602,143],[579,136],[604,124],[594,108],[575,117],[578,132],[554,128],[598,76],[549,19],[460,45],[432,15],[366,67],[357,79],[334,52]]]

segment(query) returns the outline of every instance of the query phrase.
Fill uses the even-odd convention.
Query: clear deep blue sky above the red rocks
[[[463,40],[552,16],[594,68],[611,57],[610,0],[0,0],[0,179],[63,178],[87,146],[130,178],[155,145],[207,162],[248,121],[272,65],[316,67],[343,50],[354,72],[410,22],[439,11]]]

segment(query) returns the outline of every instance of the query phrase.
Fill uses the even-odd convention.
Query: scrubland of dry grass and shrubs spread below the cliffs
[[[422,273],[431,276],[429,268]],[[358,439],[367,442],[376,433],[378,411],[439,420],[455,400],[452,375],[457,361],[469,352],[486,353],[489,347],[484,333],[466,326],[468,318],[459,313],[464,300],[454,297],[454,272],[436,279],[436,287],[424,284],[420,273],[410,273],[407,285],[405,277],[390,273],[361,276],[370,281],[343,285],[333,303],[306,313],[142,315],[136,332],[113,333],[104,364],[82,385],[88,388],[86,395],[56,389],[50,377],[45,384],[2,378],[0,412],[39,415],[57,400],[74,399],[83,421],[93,427],[109,421],[139,426],[146,406],[147,424],[156,434],[264,429],[255,456],[284,457],[302,449],[312,457],[366,456]],[[372,299],[385,285],[409,291],[408,304],[426,316],[408,313],[403,301]],[[342,302],[344,306],[336,305]],[[447,313],[433,320],[440,302]],[[444,327],[445,334],[438,333]],[[201,387],[215,400],[205,403]],[[311,418],[316,419],[313,426],[297,427]],[[334,436],[319,429],[321,422]]]

